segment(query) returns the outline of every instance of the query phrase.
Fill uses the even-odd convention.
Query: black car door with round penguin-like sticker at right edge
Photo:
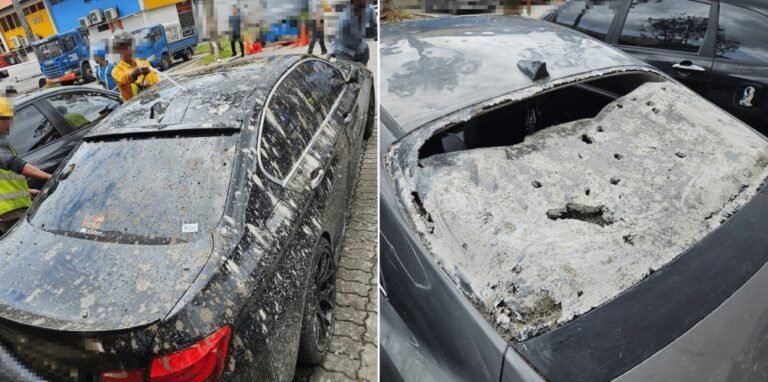
[[[709,98],[768,134],[768,15],[720,3]]]

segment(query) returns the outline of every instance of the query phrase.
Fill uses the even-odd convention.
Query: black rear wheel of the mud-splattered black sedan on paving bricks
[[[321,239],[312,254],[309,280],[299,340],[299,362],[319,365],[333,337],[336,314],[336,257],[331,244]]]

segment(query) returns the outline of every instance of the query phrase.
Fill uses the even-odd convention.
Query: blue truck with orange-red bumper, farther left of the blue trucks
[[[96,79],[89,62],[90,51],[85,30],[72,30],[32,43],[45,78],[40,87],[47,83],[69,85],[77,80],[91,82]]]

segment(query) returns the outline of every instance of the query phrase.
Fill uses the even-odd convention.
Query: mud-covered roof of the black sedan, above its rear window
[[[266,102],[277,80],[303,55],[240,59],[181,77],[163,79],[105,118],[90,136],[157,130],[240,128]],[[178,84],[178,85],[177,85]]]

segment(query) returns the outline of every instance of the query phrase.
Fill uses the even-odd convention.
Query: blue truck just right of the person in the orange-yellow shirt
[[[197,33],[183,33],[178,23],[151,25],[131,33],[136,41],[136,57],[161,70],[170,68],[172,59],[189,60],[198,43]]]

